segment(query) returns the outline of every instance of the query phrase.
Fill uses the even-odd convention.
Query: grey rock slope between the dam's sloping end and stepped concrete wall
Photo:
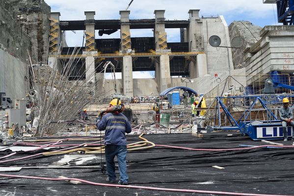
[[[242,68],[243,51],[260,40],[260,31],[262,27],[253,25],[248,21],[234,21],[229,26],[230,40],[236,36],[243,39],[243,45],[240,49],[232,49],[234,69]]]

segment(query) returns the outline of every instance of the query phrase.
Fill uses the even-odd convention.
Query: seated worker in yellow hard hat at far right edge
[[[293,109],[291,109],[289,106],[289,99],[283,98],[283,107],[279,108],[279,115],[280,119],[282,121],[283,126],[283,136],[284,141],[288,141],[288,132],[287,132],[287,126],[293,126]],[[293,135],[292,135],[293,140]]]

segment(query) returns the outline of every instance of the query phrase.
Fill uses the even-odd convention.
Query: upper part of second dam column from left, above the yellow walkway
[[[86,16],[86,46],[85,51],[95,51],[95,11],[84,12]]]

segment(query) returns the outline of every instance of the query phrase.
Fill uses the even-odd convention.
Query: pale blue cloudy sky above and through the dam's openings
[[[84,11],[95,11],[96,20],[119,19],[119,10],[125,10],[131,0],[45,0],[52,12],[60,12],[60,20],[84,20]],[[187,20],[189,9],[200,9],[200,17],[223,15],[227,24],[250,21],[254,25],[278,25],[275,4],[263,0],[134,0],[129,7],[130,19],[153,19],[154,10],[165,10],[166,20]],[[180,29],[166,29],[168,42],[180,41]],[[98,35],[101,38],[119,38],[120,32]],[[131,37],[152,37],[152,29],[131,29]],[[81,46],[83,32],[67,31],[70,47]]]

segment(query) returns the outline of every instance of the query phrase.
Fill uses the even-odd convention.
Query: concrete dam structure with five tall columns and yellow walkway
[[[60,13],[51,13],[51,30],[48,64],[63,70],[64,62],[70,58],[74,48],[63,47],[62,33],[67,30],[84,30],[85,47],[79,49],[76,57],[77,69],[71,79],[82,78],[101,85],[104,78],[103,65],[111,61],[116,73],[122,73],[117,80],[118,91],[126,97],[159,94],[174,84],[183,85],[179,77],[197,78],[208,73],[228,71],[232,64],[231,49],[216,49],[208,44],[212,35],[218,35],[224,46],[230,47],[228,26],[222,16],[199,17],[199,9],[188,11],[188,20],[165,20],[165,10],[155,10],[155,19],[130,20],[130,11],[120,11],[120,20],[95,20],[95,12],[84,12],[85,20],[62,21]],[[167,42],[166,28],[179,28],[181,42]],[[153,37],[135,37],[131,29],[152,29]],[[119,39],[96,39],[99,34],[120,30]],[[210,58],[208,58],[210,56]],[[231,66],[233,67],[233,66]],[[134,71],[154,71],[155,78],[133,79]],[[82,75],[82,73],[84,73]],[[95,74],[92,74],[95,72]],[[107,69],[110,72],[110,69]],[[108,81],[107,84],[111,85]],[[107,86],[106,89],[112,89]]]

